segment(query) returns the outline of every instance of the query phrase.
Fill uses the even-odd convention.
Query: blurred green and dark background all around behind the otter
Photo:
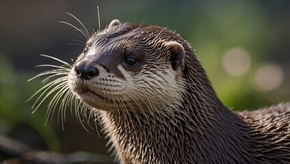
[[[67,113],[64,130],[57,115],[46,126],[48,102],[31,114],[40,79],[27,82],[57,64],[39,54],[72,63],[83,50],[68,44],[80,33],[59,23],[101,29],[122,22],[167,27],[180,33],[196,53],[218,96],[230,108],[257,109],[290,101],[290,1],[0,1],[0,133],[36,150],[107,154],[106,140],[86,132]],[[34,99],[35,100],[35,99]],[[36,135],[31,135],[36,134]],[[39,136],[38,136],[39,135]]]

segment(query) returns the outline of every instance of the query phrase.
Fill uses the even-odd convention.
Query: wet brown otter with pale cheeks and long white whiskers
[[[38,92],[39,105],[56,92],[48,113],[59,101],[61,114],[69,104],[78,118],[90,109],[121,163],[290,163],[290,103],[228,109],[169,29],[113,20],[73,65],[61,62],[37,76],[60,76]]]

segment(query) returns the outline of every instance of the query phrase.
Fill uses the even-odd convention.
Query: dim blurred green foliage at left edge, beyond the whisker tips
[[[40,81],[27,83],[31,74],[16,72],[4,55],[0,55],[0,66],[0,133],[8,133],[14,126],[25,122],[40,133],[51,150],[60,150],[53,127],[47,124],[47,127],[43,128],[46,110],[31,115],[33,102],[25,103],[29,96],[41,87]]]

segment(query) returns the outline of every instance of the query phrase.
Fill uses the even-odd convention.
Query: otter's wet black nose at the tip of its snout
[[[93,77],[98,76],[98,69],[85,61],[79,61],[75,64],[75,72],[77,77],[85,80],[90,80]]]

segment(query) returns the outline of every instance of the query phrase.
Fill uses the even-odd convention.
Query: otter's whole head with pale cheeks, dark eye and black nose
[[[185,51],[168,33],[173,32],[113,20],[88,40],[75,61],[70,90],[105,111],[176,107],[184,92]]]

